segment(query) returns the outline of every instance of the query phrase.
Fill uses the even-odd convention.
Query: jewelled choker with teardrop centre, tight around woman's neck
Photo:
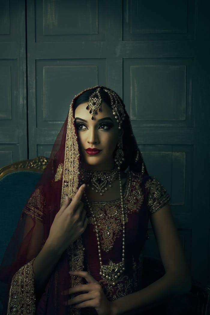
[[[108,190],[107,185],[112,187],[112,183],[117,179],[117,168],[111,171],[93,171],[91,169],[80,169],[80,182],[89,186],[91,183],[92,190],[98,192],[101,196]]]

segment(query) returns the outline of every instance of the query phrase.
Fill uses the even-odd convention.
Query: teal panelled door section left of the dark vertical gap
[[[25,2],[0,2],[0,167],[27,158]]]

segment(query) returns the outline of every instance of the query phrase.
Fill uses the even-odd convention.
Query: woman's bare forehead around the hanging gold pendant
[[[79,117],[85,120],[92,120],[92,115],[90,114],[90,110],[87,110],[86,107],[88,106],[88,102],[81,103],[77,106],[74,116]],[[97,110],[97,115],[94,115],[94,120],[97,121],[98,119],[110,117],[113,122],[116,120],[114,119],[114,115],[112,109],[105,103],[101,102],[101,112]],[[94,120],[92,120],[94,122]]]

